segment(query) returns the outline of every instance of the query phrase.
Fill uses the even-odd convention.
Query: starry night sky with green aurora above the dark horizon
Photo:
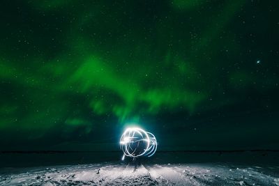
[[[279,1],[0,3],[0,150],[279,150]]]

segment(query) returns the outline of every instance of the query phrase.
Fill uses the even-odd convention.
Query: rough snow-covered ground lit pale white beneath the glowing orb
[[[107,162],[1,169],[0,185],[279,185],[279,166]]]

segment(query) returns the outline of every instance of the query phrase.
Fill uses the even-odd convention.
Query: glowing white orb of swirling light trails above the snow
[[[120,148],[123,151],[122,160],[125,156],[151,157],[157,150],[157,140],[151,132],[146,132],[138,127],[130,127],[121,136]]]

